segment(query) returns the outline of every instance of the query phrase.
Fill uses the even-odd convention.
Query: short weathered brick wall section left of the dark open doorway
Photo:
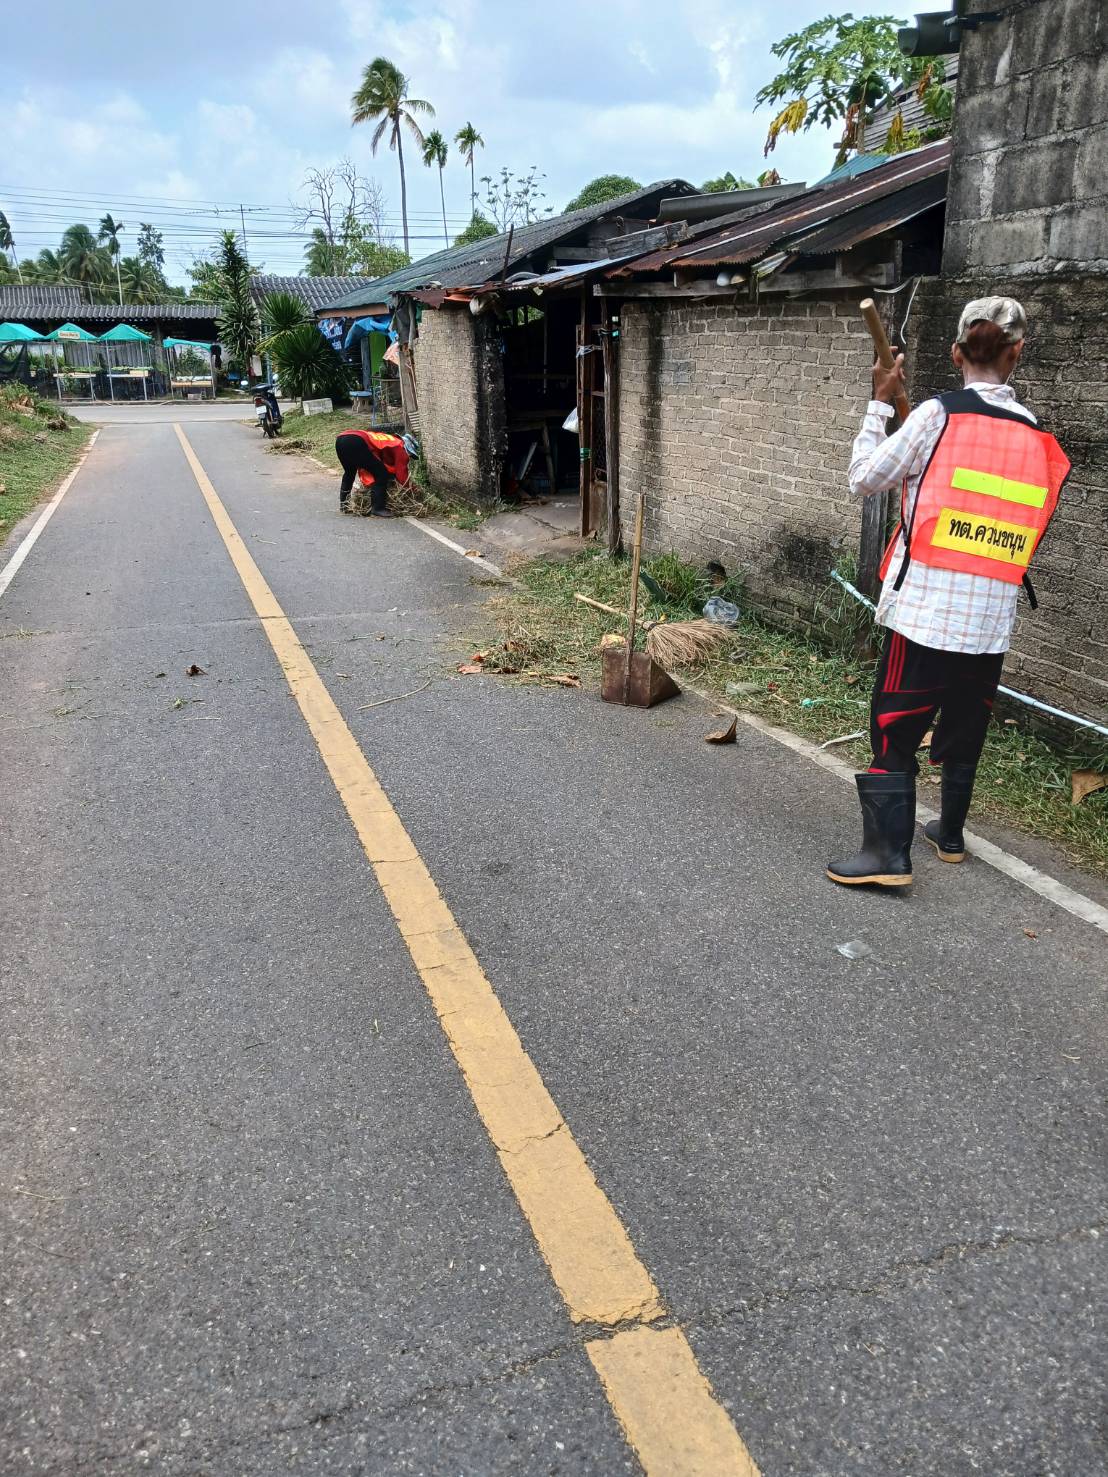
[[[415,385],[431,486],[492,501],[505,446],[504,371],[492,322],[464,307],[427,309],[415,344]]]

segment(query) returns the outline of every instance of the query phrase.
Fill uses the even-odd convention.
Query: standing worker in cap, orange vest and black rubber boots
[[[969,303],[951,349],[965,388],[925,400],[892,436],[885,421],[904,388],[904,356],[875,365],[873,400],[854,442],[849,482],[861,495],[901,487],[901,521],[885,552],[878,622],[889,629],[870,707],[873,762],[855,775],[863,842],[833,861],[833,882],[912,882],[916,750],[934,724],[943,809],[925,836],[943,861],[966,854],[974,793],[1019,586],[1070,471],[1008,380],[1027,316],[1010,297]],[[935,722],[935,715],[938,721]]]

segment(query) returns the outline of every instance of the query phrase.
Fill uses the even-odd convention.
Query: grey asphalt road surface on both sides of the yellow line
[[[844,784],[458,676],[471,563],[186,430],[765,1477],[1108,1473],[1105,935],[833,888]],[[0,1471],[640,1471],[170,424],[0,666]]]

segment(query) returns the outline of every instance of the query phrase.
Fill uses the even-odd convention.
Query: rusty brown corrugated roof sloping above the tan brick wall
[[[886,201],[888,196],[932,176],[945,174],[950,164],[950,140],[931,143],[910,154],[898,154],[886,164],[867,170],[857,179],[824,185],[773,210],[764,211],[746,222],[718,229],[708,238],[700,238],[693,247],[683,242],[663,251],[640,257],[613,270],[613,276],[631,272],[660,272],[666,267],[724,267],[743,266],[756,261],[782,242],[799,239],[805,232],[830,226],[833,222],[861,207]],[[897,216],[888,204],[886,225],[895,225]]]

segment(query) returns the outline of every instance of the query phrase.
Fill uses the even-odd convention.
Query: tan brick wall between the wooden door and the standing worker
[[[644,544],[742,569],[753,604],[810,623],[861,510],[847,486],[872,346],[849,301],[625,303],[620,514]]]

